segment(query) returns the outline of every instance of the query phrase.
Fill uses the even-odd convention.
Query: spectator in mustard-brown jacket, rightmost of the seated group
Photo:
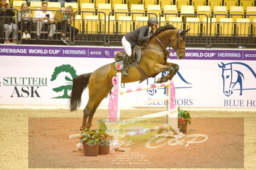
[[[73,21],[73,7],[67,6],[67,8],[62,8],[62,10],[66,10],[68,12],[56,12],[55,23],[57,28],[62,30],[62,41],[69,45],[69,33],[71,33],[71,37],[73,38],[73,34],[78,34],[78,29],[71,26],[71,22]]]

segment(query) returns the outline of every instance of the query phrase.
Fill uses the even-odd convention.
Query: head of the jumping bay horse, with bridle
[[[190,29],[178,29],[176,35],[171,36],[170,45],[175,49],[178,59],[182,59],[185,56],[185,34]]]

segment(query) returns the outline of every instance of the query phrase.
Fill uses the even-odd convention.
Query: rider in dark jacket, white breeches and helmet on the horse
[[[134,45],[140,45],[148,41],[149,38],[153,36],[153,30],[157,29],[157,26],[158,26],[157,18],[151,17],[148,19],[148,26],[138,27],[137,29],[123,36],[122,45],[124,47],[126,55],[124,56],[124,70],[122,75],[128,76],[127,69],[128,69],[128,63],[132,56],[132,47]]]

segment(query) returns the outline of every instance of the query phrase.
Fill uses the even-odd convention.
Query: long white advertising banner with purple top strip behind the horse
[[[0,104],[67,106],[73,78],[114,62],[116,50],[122,49],[1,45]],[[168,61],[180,66],[173,78],[177,105],[256,107],[256,50],[187,49],[182,60],[176,59],[175,52],[171,51]],[[159,73],[141,84],[122,84],[122,88],[154,84],[165,74]],[[130,105],[164,97],[165,93],[165,88],[149,89],[124,94],[121,101]],[[101,106],[108,105],[108,98],[109,95]],[[82,95],[81,108],[87,100],[88,88]],[[164,102],[157,102],[146,106],[163,105]]]

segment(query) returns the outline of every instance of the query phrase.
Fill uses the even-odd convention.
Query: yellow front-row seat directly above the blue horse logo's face
[[[219,19],[220,36],[232,36],[234,33],[233,19],[220,18]]]

